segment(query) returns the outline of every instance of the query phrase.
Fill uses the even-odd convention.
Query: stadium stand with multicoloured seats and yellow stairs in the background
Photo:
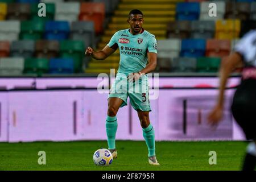
[[[38,16],[40,2],[46,3],[45,17]],[[209,16],[210,3],[215,3],[217,16]],[[203,63],[229,55],[241,36],[256,28],[256,1],[251,0],[0,0],[0,57],[48,63],[40,68],[36,61],[24,61],[35,64],[23,73],[57,73],[49,60],[62,64],[66,58],[72,60],[72,71],[58,73],[109,73],[118,69],[119,50],[97,61],[84,56],[85,48],[102,49],[116,31],[128,28],[131,9],[142,10],[144,28],[158,40],[159,72],[213,72],[216,67]],[[202,62],[200,69],[173,68],[173,63],[179,65],[175,61],[187,58]]]

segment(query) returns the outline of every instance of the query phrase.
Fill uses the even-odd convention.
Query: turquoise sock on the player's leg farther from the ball
[[[155,155],[155,131],[151,123],[143,130],[143,137],[146,140],[148,156]]]

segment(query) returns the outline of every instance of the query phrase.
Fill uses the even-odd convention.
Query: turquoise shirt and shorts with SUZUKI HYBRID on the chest
[[[155,36],[144,29],[137,35],[131,34],[130,29],[120,30],[113,35],[108,46],[113,49],[119,48],[120,52],[119,68],[109,98],[121,98],[122,107],[127,105],[129,96],[131,106],[135,110],[151,111],[147,75],[143,75],[135,82],[129,82],[127,76],[146,67],[147,52],[157,53]]]

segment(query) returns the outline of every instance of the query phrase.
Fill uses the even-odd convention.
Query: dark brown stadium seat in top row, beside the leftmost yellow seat
[[[30,19],[29,3],[10,3],[7,7],[6,19],[10,20],[28,20]]]

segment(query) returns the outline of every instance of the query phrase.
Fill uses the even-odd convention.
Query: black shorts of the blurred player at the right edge
[[[246,139],[256,140],[256,80],[241,82],[234,94],[232,114],[245,133]]]

